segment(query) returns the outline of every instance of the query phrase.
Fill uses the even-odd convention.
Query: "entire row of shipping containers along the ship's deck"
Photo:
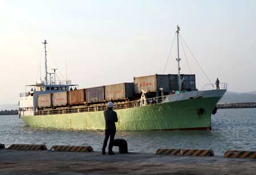
[[[180,78],[183,79],[181,90],[196,90],[195,75],[181,74]],[[38,108],[102,104],[107,101],[119,103],[139,99],[142,90],[147,92],[148,97],[168,95],[172,91],[179,90],[178,76],[177,74],[155,74],[135,77],[133,83],[119,83],[39,95]]]

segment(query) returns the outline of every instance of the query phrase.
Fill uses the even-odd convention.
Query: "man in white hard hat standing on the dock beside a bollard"
[[[112,151],[113,144],[114,144],[114,137],[115,137],[115,122],[118,122],[117,118],[117,113],[113,110],[114,104],[112,101],[109,101],[108,104],[108,109],[104,111],[104,117],[105,117],[105,139],[102,147],[102,155],[105,155],[105,149],[106,145],[109,140],[109,155],[114,155],[115,153]]]

